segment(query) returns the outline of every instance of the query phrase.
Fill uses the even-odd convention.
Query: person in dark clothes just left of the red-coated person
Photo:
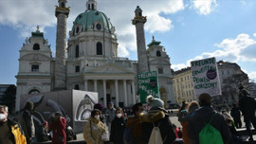
[[[44,121],[42,126],[40,127],[40,133],[37,136],[37,141],[38,142],[45,142],[49,140],[49,135],[48,135],[48,122]]]

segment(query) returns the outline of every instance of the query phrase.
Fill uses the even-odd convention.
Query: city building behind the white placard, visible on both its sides
[[[231,105],[237,103],[239,86],[241,85],[251,93],[254,92],[253,84],[249,86],[247,74],[237,63],[219,61],[217,67],[222,95],[214,96],[213,104]],[[183,100],[190,102],[196,99],[193,93],[191,67],[174,72],[174,96],[177,103],[181,103]]]

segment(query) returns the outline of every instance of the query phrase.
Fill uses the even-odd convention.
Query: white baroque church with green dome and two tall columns
[[[97,9],[96,0],[88,0],[86,9],[73,22],[66,42],[66,0],[56,6],[56,56],[39,27],[26,39],[20,50],[17,79],[16,110],[20,98],[27,94],[66,89],[98,92],[99,102],[116,106],[132,106],[139,100],[137,74],[158,72],[160,98],[174,103],[170,57],[160,42],[145,45],[144,24],[147,19],[137,7],[131,25],[137,33],[137,60],[120,58],[118,38],[110,19]],[[67,45],[66,45],[67,44]]]

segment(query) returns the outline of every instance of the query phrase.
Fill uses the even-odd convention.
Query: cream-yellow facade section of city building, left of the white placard
[[[191,102],[196,99],[193,91],[191,67],[174,72],[174,96],[177,104],[181,104],[182,101]]]

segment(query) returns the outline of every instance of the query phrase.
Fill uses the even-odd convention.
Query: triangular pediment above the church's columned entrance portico
[[[108,74],[132,74],[133,71],[131,69],[127,69],[126,67],[121,67],[115,63],[106,63],[100,65],[96,68],[90,69],[86,72],[89,73],[108,73]]]

